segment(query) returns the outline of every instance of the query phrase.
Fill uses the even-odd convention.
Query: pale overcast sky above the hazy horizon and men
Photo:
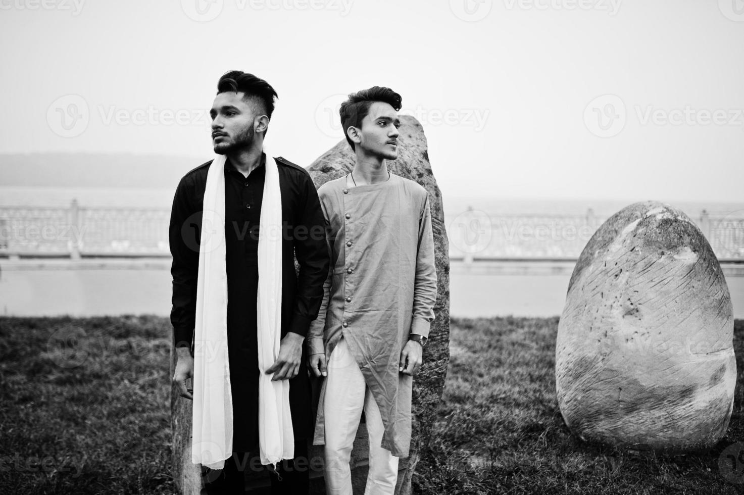
[[[267,144],[300,165],[342,138],[344,95],[379,85],[446,195],[743,198],[742,0],[0,0],[0,41],[0,153],[188,170],[240,69],[277,90]]]

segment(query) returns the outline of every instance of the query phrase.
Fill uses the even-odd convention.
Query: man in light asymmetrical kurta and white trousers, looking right
[[[341,124],[356,153],[347,176],[318,189],[331,251],[307,345],[325,376],[315,424],[328,494],[351,495],[349,461],[362,410],[369,434],[365,494],[393,494],[411,443],[411,385],[434,319],[437,276],[429,194],[388,171],[397,158],[400,95],[349,95]]]

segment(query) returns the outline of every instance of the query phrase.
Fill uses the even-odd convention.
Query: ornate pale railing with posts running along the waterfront
[[[168,257],[170,211],[164,208],[0,207],[0,257]],[[606,220],[581,215],[445,217],[453,261],[576,260]],[[744,211],[693,216],[721,261],[744,261]]]

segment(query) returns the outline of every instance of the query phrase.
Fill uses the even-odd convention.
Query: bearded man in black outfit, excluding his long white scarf
[[[207,473],[208,493],[242,494],[245,481],[241,468],[255,466],[247,462],[248,453],[255,455],[258,451],[257,252],[265,164],[266,159],[271,159],[262,150],[276,97],[275,90],[266,81],[253,74],[231,71],[219,79],[211,109],[214,151],[227,158],[225,261],[234,456],[225,460],[222,471]],[[307,438],[312,418],[303,342],[310,322],[318,316],[329,259],[325,220],[310,174],[283,158],[276,162],[283,227],[281,342],[278,359],[267,372],[274,373],[272,380],[289,380],[295,459],[278,464],[277,473],[270,477],[272,494],[307,494]],[[178,354],[173,383],[187,399],[193,398],[186,380],[193,377],[199,242],[210,165],[211,161],[206,162],[181,179],[170,217],[170,252],[173,254],[170,320]],[[295,256],[299,272],[295,272]]]

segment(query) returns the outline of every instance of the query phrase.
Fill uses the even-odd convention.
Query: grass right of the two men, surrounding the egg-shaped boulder
[[[742,494],[719,472],[744,441],[744,321],[736,322],[737,389],[728,433],[710,451],[663,456],[592,446],[571,435],[555,396],[558,319],[452,322],[443,400],[417,493]]]

